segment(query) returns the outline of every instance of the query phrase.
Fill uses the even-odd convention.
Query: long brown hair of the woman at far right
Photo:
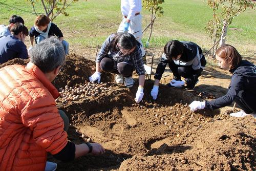
[[[222,45],[217,49],[216,55],[223,58],[225,61],[231,58],[230,69],[236,68],[242,60],[242,56],[238,53],[237,49],[231,45]]]

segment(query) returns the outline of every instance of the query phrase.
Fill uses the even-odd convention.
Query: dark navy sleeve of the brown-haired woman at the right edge
[[[218,109],[230,105],[238,93],[244,89],[244,79],[241,75],[233,75],[227,94],[212,101],[205,101],[205,109]]]

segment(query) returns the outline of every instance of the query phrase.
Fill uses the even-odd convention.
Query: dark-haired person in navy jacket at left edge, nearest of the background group
[[[22,23],[15,23],[11,27],[12,35],[0,38],[0,63],[14,58],[28,59],[27,47],[24,44],[29,31]]]

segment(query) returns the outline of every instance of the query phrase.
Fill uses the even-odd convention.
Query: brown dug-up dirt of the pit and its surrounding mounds
[[[94,62],[71,54],[54,84],[60,88],[82,83],[93,68]],[[102,78],[113,81],[109,73]],[[169,80],[166,75],[162,83]],[[75,143],[91,138],[106,153],[70,163],[51,160],[58,163],[57,170],[255,170],[255,119],[229,117],[230,107],[193,113],[187,106],[193,100],[222,96],[229,81],[228,73],[207,67],[195,91],[162,84],[156,101],[150,96],[153,81],[146,80],[140,104],[134,102],[137,85],[127,89],[114,83],[111,91],[97,97],[58,103],[70,118],[68,138]]]

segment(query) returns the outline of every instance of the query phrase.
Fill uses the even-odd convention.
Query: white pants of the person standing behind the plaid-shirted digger
[[[136,40],[138,40],[141,44],[141,53],[142,53],[142,56],[145,55],[145,50],[144,50],[144,47],[143,47],[143,44],[142,44],[142,41],[141,41],[141,38],[142,38],[142,25],[141,25],[141,20],[142,20],[142,16],[139,14],[139,15],[136,15],[136,16],[133,16],[131,18],[131,23],[130,23],[130,26],[128,28],[128,32],[129,33],[132,33],[134,35],[134,37],[136,38]],[[122,22],[117,30],[117,33],[119,32],[123,32],[123,25],[124,23],[126,22],[126,18],[123,17],[122,19]]]

